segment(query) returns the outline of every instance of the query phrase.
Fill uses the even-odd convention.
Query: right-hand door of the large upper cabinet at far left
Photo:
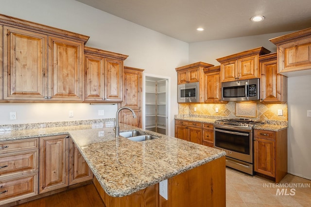
[[[82,101],[83,44],[49,37],[51,98]],[[50,95],[49,95],[50,96]]]

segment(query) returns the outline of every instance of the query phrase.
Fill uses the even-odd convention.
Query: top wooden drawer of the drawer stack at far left
[[[0,153],[38,147],[38,139],[14,140],[0,142]]]

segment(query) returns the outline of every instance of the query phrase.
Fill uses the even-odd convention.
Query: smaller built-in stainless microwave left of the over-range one
[[[199,82],[179,84],[178,103],[199,102]]]

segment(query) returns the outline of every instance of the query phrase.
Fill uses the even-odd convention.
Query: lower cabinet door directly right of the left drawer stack
[[[40,138],[39,193],[68,186],[68,140],[65,136]]]

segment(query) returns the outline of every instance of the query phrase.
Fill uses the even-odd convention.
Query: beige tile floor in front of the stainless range
[[[226,168],[226,207],[311,207],[311,180],[288,174],[281,183],[284,188],[257,175]]]

